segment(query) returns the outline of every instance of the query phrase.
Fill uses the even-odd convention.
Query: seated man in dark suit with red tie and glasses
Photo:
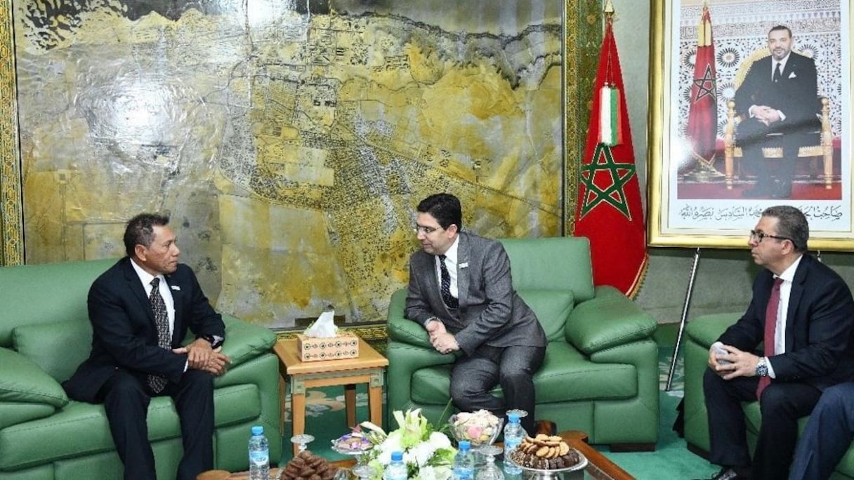
[[[786,478],[798,437],[822,390],[854,375],[851,290],[807,251],[800,210],[766,208],[750,246],[765,269],[746,313],[715,342],[703,378],[713,478]],[[763,354],[753,351],[763,343]],[[719,349],[722,348],[722,349]],[[751,462],[742,401],[759,400],[762,423]]]

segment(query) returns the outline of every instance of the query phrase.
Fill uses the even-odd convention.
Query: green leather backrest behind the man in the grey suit
[[[594,297],[586,237],[502,238],[513,288],[534,310],[550,342],[564,339],[572,308]]]

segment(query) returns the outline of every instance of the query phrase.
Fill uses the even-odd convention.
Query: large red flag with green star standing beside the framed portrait
[[[635,296],[646,272],[646,229],[623,73],[607,16],[578,184],[575,235],[590,240],[594,284]]]

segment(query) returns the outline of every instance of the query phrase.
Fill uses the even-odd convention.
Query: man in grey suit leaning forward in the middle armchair
[[[451,399],[464,412],[503,416],[519,408],[535,433],[534,373],[546,354],[546,334],[513,290],[510,259],[500,243],[462,229],[456,196],[418,203],[422,251],[409,260],[407,319],[424,325],[436,351],[461,351],[451,372]],[[489,393],[501,385],[504,400]]]

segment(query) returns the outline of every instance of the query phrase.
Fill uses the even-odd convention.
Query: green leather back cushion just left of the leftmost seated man
[[[91,344],[89,320],[20,325],[12,330],[15,350],[36,362],[57,382],[71,378],[77,366],[89,357]]]

